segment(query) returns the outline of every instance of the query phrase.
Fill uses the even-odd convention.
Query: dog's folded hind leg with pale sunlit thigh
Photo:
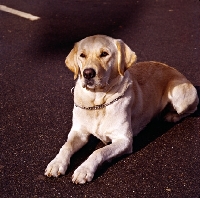
[[[178,122],[180,119],[194,113],[199,102],[197,91],[190,83],[182,83],[173,87],[169,94],[173,108],[165,119],[169,122]]]

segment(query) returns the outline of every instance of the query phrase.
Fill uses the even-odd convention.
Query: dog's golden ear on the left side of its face
[[[77,54],[77,44],[74,45],[74,48],[71,50],[71,52],[68,54],[68,56],[65,59],[66,66],[74,72],[74,80],[78,77],[79,73],[79,67],[76,60],[76,54]]]

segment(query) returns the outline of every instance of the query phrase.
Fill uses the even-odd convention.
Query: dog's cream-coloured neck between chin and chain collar
[[[77,81],[74,89],[74,102],[77,106],[86,108],[110,103],[122,96],[131,83],[129,72],[125,72],[124,76],[118,76],[109,85],[99,90],[83,88],[81,83]]]

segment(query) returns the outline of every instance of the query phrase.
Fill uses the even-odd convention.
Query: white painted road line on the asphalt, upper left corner
[[[21,12],[19,10],[12,9],[12,8],[9,8],[9,7],[4,6],[4,5],[0,5],[0,10],[4,11],[4,12],[9,12],[11,14],[15,14],[17,16],[29,19],[31,21],[35,21],[35,20],[40,19],[40,17],[33,16],[32,14],[29,14],[29,13],[26,13],[26,12]]]

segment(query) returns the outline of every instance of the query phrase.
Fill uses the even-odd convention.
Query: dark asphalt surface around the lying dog
[[[66,175],[43,176],[71,127],[73,74],[64,60],[94,34],[120,38],[138,61],[167,63],[200,92],[198,0],[22,1],[0,4],[41,17],[0,11],[0,197],[200,197],[200,108],[177,124],[155,120],[134,151],[75,185],[73,171],[103,144],[95,138]]]

